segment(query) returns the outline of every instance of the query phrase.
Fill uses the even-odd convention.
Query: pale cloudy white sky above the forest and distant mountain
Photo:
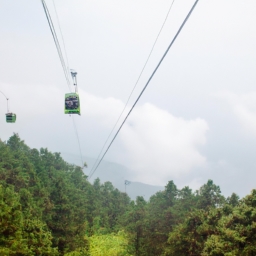
[[[146,61],[172,0],[55,0],[82,115],[84,156],[97,157]],[[59,33],[52,0],[46,1]],[[194,1],[176,0],[131,98],[145,85]],[[213,179],[241,196],[256,179],[256,1],[200,0],[106,160],[130,179],[198,188]],[[13,132],[30,147],[79,154],[68,92],[41,1],[0,0],[0,90]],[[59,35],[59,40],[61,37]],[[86,159],[85,159],[86,160]],[[90,167],[89,167],[90,170]]]

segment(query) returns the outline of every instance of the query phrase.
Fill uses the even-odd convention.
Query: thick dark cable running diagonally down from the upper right
[[[153,73],[151,74],[151,76],[149,77],[146,85],[144,86],[144,88],[142,89],[141,93],[139,94],[138,98],[136,99],[136,101],[134,102],[134,104],[132,105],[130,111],[128,112],[128,114],[126,115],[125,119],[123,120],[122,124],[120,125],[120,127],[118,128],[116,134],[114,135],[113,139],[111,140],[110,144],[108,145],[107,149],[105,150],[103,156],[101,157],[100,161],[98,162],[97,166],[94,168],[94,170],[91,171],[90,175],[88,176],[88,179],[90,179],[92,177],[92,175],[95,173],[95,171],[97,170],[97,168],[99,167],[101,161],[103,160],[104,156],[106,155],[106,153],[108,152],[109,148],[111,147],[111,145],[113,144],[114,140],[116,139],[118,133],[120,132],[120,130],[122,129],[124,123],[126,122],[127,118],[129,117],[129,115],[131,114],[132,110],[134,109],[135,105],[137,104],[137,102],[139,101],[140,97],[142,96],[143,92],[146,90],[148,84],[150,83],[150,81],[152,80],[152,78],[154,77],[156,71],[158,70],[158,68],[160,67],[161,63],[163,62],[165,56],[167,55],[168,51],[170,50],[171,46],[173,45],[173,43],[175,42],[175,40],[177,39],[178,35],[180,34],[182,28],[184,27],[184,25],[186,24],[186,22],[188,21],[191,13],[193,12],[194,8],[196,7],[197,3],[199,0],[196,0],[195,3],[193,4],[192,8],[190,9],[189,13],[187,14],[186,18],[184,19],[184,21],[182,22],[180,28],[178,29],[176,35],[174,36],[174,38],[172,39],[171,43],[169,44],[169,46],[167,47],[164,55],[162,56],[162,58],[160,59],[159,63],[157,64],[156,68],[154,69]]]

